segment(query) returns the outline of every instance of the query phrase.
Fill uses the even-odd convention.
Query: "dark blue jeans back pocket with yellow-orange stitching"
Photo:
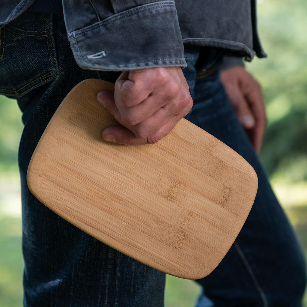
[[[0,29],[0,94],[28,94],[57,75],[52,14],[26,12]]]

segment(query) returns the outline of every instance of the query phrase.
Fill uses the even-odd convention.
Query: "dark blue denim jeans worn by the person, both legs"
[[[98,78],[97,72],[76,65],[60,16],[28,12],[0,31],[4,38],[0,93],[17,99],[25,124],[18,153],[24,306],[163,306],[165,274],[72,226],[27,187],[30,158],[56,108],[74,85]],[[305,289],[301,247],[232,110],[218,71],[196,78],[213,63],[197,62],[199,55],[198,47],[186,46],[188,67],[183,72],[195,102],[187,119],[247,159],[258,174],[259,188],[234,245],[212,274],[197,281],[203,286],[197,306],[301,306]]]

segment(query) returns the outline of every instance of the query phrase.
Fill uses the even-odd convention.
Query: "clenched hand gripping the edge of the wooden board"
[[[106,128],[103,139],[127,145],[158,142],[193,105],[179,67],[122,72],[115,82],[114,95],[100,92],[97,99],[122,125]]]

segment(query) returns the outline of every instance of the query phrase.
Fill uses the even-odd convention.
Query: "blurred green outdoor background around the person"
[[[262,84],[268,128],[260,158],[307,252],[307,2],[258,1],[267,59],[247,68]],[[22,305],[20,187],[17,148],[21,113],[0,96],[0,306]],[[166,307],[193,306],[199,287],[167,276]],[[307,306],[307,299],[305,300]]]

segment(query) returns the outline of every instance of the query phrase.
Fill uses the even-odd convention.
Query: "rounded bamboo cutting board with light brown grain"
[[[89,235],[167,274],[207,276],[254,202],[258,180],[238,153],[182,119],[156,144],[118,145],[96,99],[114,84],[88,79],[61,103],[30,161],[43,204]]]

